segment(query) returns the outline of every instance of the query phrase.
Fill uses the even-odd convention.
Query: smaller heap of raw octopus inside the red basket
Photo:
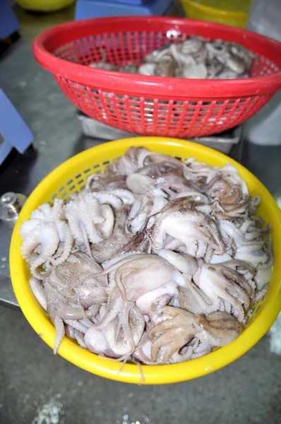
[[[246,78],[255,57],[246,47],[235,42],[206,40],[198,36],[163,45],[146,54],[138,65],[111,64],[105,50],[101,56],[102,60],[90,64],[90,67],[146,76],[199,79]]]

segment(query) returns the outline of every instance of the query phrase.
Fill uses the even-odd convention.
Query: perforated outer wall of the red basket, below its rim
[[[67,83],[68,97],[95,119],[137,134],[184,138],[221,132],[238,125],[270,97],[177,102],[132,98],[101,90],[92,93],[92,89],[77,88],[77,84],[73,93],[72,87],[73,83]]]

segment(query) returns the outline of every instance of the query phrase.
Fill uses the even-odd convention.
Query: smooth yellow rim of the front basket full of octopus
[[[78,153],[59,165],[59,167],[56,167],[33,190],[20,212],[20,216],[16,222],[11,239],[10,267],[13,290],[15,291],[16,298],[23,314],[25,314],[26,319],[30,322],[30,325],[37,334],[40,335],[40,338],[42,338],[50,347],[53,348],[54,346],[54,326],[51,322],[49,322],[46,314],[43,313],[42,308],[40,308],[40,305],[35,301],[35,298],[32,297],[32,294],[28,289],[28,285],[21,283],[22,281],[26,281],[25,269],[27,265],[20,255],[21,238],[18,234],[20,225],[25,219],[29,218],[30,212],[33,210],[34,206],[40,203],[42,193],[46,192],[49,187],[56,184],[59,179],[66,178],[66,173],[68,173],[69,169],[84,163],[85,157],[89,158],[89,155],[91,155],[92,158],[99,158],[102,154],[106,154],[107,157],[112,157],[112,154],[116,153],[117,150],[118,152],[121,152],[131,146],[145,146],[151,150],[159,149],[158,151],[161,151],[163,144],[169,147],[181,147],[183,150],[186,150],[186,153],[188,151],[192,154],[196,152],[198,160],[201,160],[203,155],[208,155],[208,158],[217,162],[219,166],[221,166],[222,163],[231,163],[237,167],[239,174],[241,177],[246,179],[246,182],[249,182],[249,180],[252,179],[252,185],[257,190],[257,193],[261,195],[262,199],[264,199],[266,210],[270,213],[270,220],[275,225],[275,249],[276,246],[279,249],[279,246],[281,245],[281,212],[273,199],[273,196],[271,196],[268,189],[266,189],[249,170],[246,170],[243,165],[237,163],[235,160],[229,158],[223,153],[217,152],[206,146],[198,145],[191,141],[170,138],[165,139],[165,137],[137,137],[132,139],[121,139],[109,143],[102,143],[99,146],[95,146]],[[277,256],[279,250],[276,249],[275,253]],[[142,369],[145,375],[145,382],[143,382],[143,384],[167,384],[201,377],[232,363],[241,355],[249,351],[249,349],[254,346],[266,333],[266,331],[268,331],[280,311],[281,264],[279,261],[275,261],[275,272],[273,273],[272,278],[274,278],[274,281],[270,285],[263,307],[239,338],[229,345],[224,346],[217,351],[213,351],[202,358],[192,360],[191,362],[172,365],[143,365]],[[140,374],[137,365],[126,364],[123,370],[120,371],[120,363],[116,363],[112,360],[106,360],[93,353],[84,351],[80,347],[74,345],[74,343],[67,338],[64,338],[61,342],[58,353],[78,367],[96,375],[100,375],[101,377],[107,377],[121,382],[140,384]]]

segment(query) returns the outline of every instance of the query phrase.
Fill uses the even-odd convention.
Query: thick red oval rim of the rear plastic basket
[[[51,53],[54,51],[54,43],[58,38],[61,39],[61,45],[67,42],[73,42],[81,38],[89,37],[95,31],[104,25],[110,25],[112,28],[119,27],[119,32],[125,31],[124,25],[143,25],[145,28],[157,28],[158,31],[181,30],[184,28],[196,28],[200,30],[217,30],[222,39],[225,35],[231,38],[240,37],[249,42],[258,42],[259,47],[271,52],[273,63],[281,69],[281,43],[272,40],[263,35],[253,33],[241,28],[234,28],[229,25],[219,23],[210,23],[201,20],[186,18],[169,18],[165,16],[118,16],[109,18],[93,18],[78,20],[69,23],[56,25],[37,35],[33,44],[32,52],[37,62],[54,76],[63,77],[72,80],[84,86],[99,87],[101,90],[111,90],[112,93],[138,93],[139,95],[160,95],[162,98],[239,98],[251,95],[263,95],[274,93],[281,88],[281,71],[268,76],[257,76],[249,78],[237,78],[226,80],[202,80],[186,78],[168,78],[161,76],[142,76],[132,73],[120,73],[118,71],[107,71],[104,69],[95,69],[82,64],[76,64]],[[121,26],[122,25],[122,26]],[[167,30],[166,28],[166,30]],[[113,30],[112,30],[113,31]],[[117,32],[117,30],[115,31]],[[246,43],[245,43],[246,45]],[[57,46],[56,46],[57,48]],[[248,47],[249,48],[249,47]],[[256,53],[257,54],[257,53]],[[269,57],[267,57],[269,59]],[[271,60],[271,59],[270,59]],[[187,84],[186,81],[189,81]]]

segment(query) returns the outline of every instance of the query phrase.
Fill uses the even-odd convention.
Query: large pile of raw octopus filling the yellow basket
[[[41,205],[20,228],[30,288],[81,348],[140,364],[198,358],[234,341],[273,266],[258,196],[232,165],[143,147]]]

